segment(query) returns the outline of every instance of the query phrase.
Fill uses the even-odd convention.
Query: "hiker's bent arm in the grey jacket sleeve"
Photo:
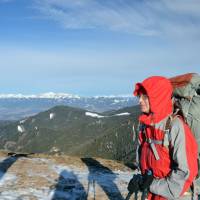
[[[176,165],[166,178],[154,179],[150,185],[150,192],[163,196],[167,199],[180,197],[185,182],[189,177],[189,166],[186,152],[185,130],[179,118],[173,120],[171,125],[172,159]],[[170,147],[170,149],[171,149]]]

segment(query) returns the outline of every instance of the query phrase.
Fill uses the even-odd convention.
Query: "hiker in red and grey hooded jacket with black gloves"
[[[198,147],[183,117],[173,114],[172,85],[165,77],[152,76],[135,85],[134,95],[142,112],[137,150],[141,174],[133,176],[128,190],[148,190],[149,200],[184,198],[198,173]]]

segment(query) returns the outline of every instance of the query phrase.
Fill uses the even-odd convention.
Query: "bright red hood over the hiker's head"
[[[139,121],[145,124],[158,123],[172,113],[172,85],[170,81],[161,76],[152,76],[142,83],[136,83],[134,95],[144,88],[150,102],[151,114],[142,114]]]

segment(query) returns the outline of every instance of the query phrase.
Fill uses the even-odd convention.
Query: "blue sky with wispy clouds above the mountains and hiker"
[[[0,93],[132,94],[200,72],[199,0],[0,0]]]

